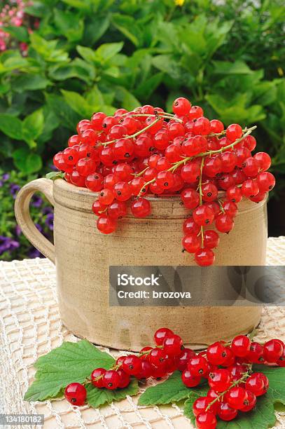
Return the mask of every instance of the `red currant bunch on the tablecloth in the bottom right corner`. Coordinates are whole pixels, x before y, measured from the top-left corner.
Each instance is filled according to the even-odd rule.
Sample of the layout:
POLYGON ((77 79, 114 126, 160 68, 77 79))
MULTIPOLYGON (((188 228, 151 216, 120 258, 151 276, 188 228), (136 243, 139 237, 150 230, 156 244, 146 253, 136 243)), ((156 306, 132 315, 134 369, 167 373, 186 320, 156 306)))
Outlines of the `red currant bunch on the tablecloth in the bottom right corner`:
POLYGON ((211 344, 188 360, 183 383, 194 387, 202 378, 209 383, 207 396, 198 397, 193 404, 197 428, 214 429, 216 416, 230 421, 239 411, 251 411, 256 406, 256 397, 264 395, 269 387, 265 374, 253 372, 252 365, 257 363, 285 367, 283 341, 272 339, 262 346, 239 335, 230 344, 211 344))

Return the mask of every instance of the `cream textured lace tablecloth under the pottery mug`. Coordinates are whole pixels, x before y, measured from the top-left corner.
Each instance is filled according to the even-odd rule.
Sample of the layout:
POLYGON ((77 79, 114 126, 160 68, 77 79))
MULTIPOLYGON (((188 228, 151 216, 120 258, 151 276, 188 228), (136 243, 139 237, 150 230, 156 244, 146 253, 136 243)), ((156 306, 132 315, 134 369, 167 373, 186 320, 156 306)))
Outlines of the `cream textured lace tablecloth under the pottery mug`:
MULTIPOLYGON (((267 264, 285 265, 285 237, 269 238, 267 264)), ((55 267, 48 259, 0 262, 0 323, 0 413, 44 414, 45 429, 193 428, 175 404, 137 407, 138 395, 100 409, 72 407, 66 400, 22 400, 34 376, 34 361, 62 341, 78 341, 60 322, 55 267)), ((285 308, 263 310, 256 338, 272 337, 285 340, 285 308)), ((31 428, 21 425, 15 429, 20 427, 31 428)), ((276 427, 285 428, 285 413, 277 413, 276 427)))

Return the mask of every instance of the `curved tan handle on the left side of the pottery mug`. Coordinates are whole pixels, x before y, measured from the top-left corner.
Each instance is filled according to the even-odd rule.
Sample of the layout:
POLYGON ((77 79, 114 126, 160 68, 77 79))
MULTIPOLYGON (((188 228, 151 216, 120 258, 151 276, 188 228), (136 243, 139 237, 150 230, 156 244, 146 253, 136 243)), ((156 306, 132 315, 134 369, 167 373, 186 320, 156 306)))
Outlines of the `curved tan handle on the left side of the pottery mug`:
POLYGON ((36 229, 29 212, 29 202, 37 191, 43 193, 51 205, 55 205, 55 200, 53 198, 53 180, 32 180, 32 182, 23 186, 18 192, 15 200, 15 217, 22 233, 27 237, 29 242, 55 264, 55 246, 36 229))

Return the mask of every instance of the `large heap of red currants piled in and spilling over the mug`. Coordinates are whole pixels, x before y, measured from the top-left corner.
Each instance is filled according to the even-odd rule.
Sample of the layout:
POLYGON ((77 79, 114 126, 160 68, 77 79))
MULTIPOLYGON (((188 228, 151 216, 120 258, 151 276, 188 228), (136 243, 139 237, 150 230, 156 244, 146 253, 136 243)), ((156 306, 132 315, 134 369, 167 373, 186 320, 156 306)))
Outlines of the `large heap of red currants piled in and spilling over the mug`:
POLYGON ((243 197, 258 203, 274 184, 265 152, 252 156, 256 139, 238 124, 209 121, 186 98, 174 100, 174 114, 145 105, 93 114, 77 125, 78 134, 53 162, 67 182, 97 192, 92 205, 97 229, 116 231, 118 219, 151 214, 147 194, 180 194, 191 216, 183 225, 183 249, 200 266, 214 264, 218 232, 229 233, 243 197), (219 191, 223 191, 222 193, 219 191), (214 225, 214 229, 204 228, 214 225), (218 231, 218 232, 217 232, 218 231))

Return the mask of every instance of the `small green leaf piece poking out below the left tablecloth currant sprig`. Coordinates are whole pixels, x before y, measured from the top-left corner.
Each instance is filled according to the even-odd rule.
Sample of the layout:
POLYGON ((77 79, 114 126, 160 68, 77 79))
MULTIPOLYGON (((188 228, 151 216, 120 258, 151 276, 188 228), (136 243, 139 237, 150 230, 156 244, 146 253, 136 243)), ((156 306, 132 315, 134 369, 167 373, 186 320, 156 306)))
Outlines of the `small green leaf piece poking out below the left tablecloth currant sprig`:
POLYGON ((91 405, 91 407, 98 408, 103 404, 111 404, 113 401, 123 400, 127 395, 137 395, 139 392, 139 385, 137 380, 134 379, 130 382, 129 386, 123 389, 97 389, 92 385, 88 385, 86 390, 88 404, 91 405))

